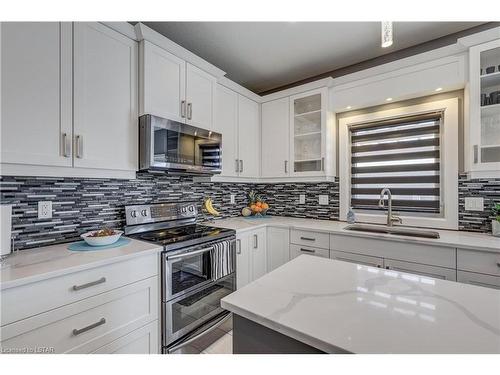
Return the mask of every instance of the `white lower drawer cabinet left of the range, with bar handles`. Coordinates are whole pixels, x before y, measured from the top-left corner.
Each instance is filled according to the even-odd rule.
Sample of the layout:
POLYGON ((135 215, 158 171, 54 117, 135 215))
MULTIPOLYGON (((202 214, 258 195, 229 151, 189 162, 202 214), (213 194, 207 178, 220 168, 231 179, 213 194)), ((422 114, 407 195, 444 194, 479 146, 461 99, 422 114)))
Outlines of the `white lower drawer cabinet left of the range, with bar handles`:
POLYGON ((2 351, 157 353, 158 333, 151 331, 153 326, 144 328, 158 321, 160 294, 157 259, 157 254, 150 254, 80 271, 73 278, 70 274, 2 290, 2 297, 6 295, 13 305, 10 309, 2 309, 8 313, 7 316, 2 314, 2 351), (153 257, 155 262, 143 261, 153 257), (130 275, 127 275, 128 265, 117 267, 120 263, 126 265, 128 262, 142 270, 135 273, 134 267, 130 267, 130 275), (146 270, 144 266, 150 269, 146 270), (96 273, 105 276, 96 279, 96 273), (141 273, 153 276, 138 279, 141 273), (29 298, 26 287, 39 284, 50 286, 52 281, 58 281, 62 289, 37 289, 29 298), (85 283, 80 284, 80 281, 85 283), (65 293, 66 289, 68 293, 65 293), (53 298, 55 295, 59 297, 53 298), (49 300, 50 303, 41 303, 43 300, 49 300), (9 311, 15 309, 16 305, 22 314, 13 320, 9 317, 12 315, 9 311))

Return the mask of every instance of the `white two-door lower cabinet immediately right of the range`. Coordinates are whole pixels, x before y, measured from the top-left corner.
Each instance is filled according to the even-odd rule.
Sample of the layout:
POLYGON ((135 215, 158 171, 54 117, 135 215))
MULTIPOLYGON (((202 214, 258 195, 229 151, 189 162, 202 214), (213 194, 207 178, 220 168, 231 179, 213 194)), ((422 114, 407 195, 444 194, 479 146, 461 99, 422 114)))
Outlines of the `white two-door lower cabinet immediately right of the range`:
POLYGON ((236 236, 237 289, 267 273, 266 228, 236 236))

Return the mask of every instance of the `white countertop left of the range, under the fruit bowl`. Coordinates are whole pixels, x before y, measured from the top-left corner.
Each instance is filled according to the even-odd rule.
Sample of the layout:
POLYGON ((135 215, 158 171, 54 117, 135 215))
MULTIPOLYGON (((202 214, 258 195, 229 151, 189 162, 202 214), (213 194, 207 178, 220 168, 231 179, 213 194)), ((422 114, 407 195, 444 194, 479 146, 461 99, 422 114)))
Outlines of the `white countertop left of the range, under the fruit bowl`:
POLYGON ((151 243, 130 240, 124 246, 95 251, 71 251, 68 250, 70 243, 17 251, 0 266, 0 289, 12 288, 162 250, 161 247, 151 243))

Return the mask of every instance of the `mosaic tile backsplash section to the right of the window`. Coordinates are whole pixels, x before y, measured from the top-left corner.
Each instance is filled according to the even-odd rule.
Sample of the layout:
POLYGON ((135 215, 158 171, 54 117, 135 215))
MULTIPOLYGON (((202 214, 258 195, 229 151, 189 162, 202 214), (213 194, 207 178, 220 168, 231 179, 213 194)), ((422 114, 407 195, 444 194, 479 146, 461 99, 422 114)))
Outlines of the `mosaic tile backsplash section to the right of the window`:
POLYGON ((459 229, 491 233, 492 208, 500 203, 500 179, 458 178, 458 221, 459 229), (466 211, 465 197, 483 197, 484 211, 466 211))

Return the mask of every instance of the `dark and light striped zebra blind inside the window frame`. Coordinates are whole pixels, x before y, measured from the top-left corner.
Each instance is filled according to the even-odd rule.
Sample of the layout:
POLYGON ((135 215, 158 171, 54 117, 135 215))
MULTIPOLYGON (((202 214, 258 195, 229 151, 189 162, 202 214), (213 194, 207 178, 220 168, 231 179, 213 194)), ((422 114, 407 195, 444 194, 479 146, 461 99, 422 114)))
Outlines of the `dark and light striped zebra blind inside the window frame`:
POLYGON ((393 209, 440 213, 442 112, 350 127, 351 206, 379 210, 388 187, 393 209))

